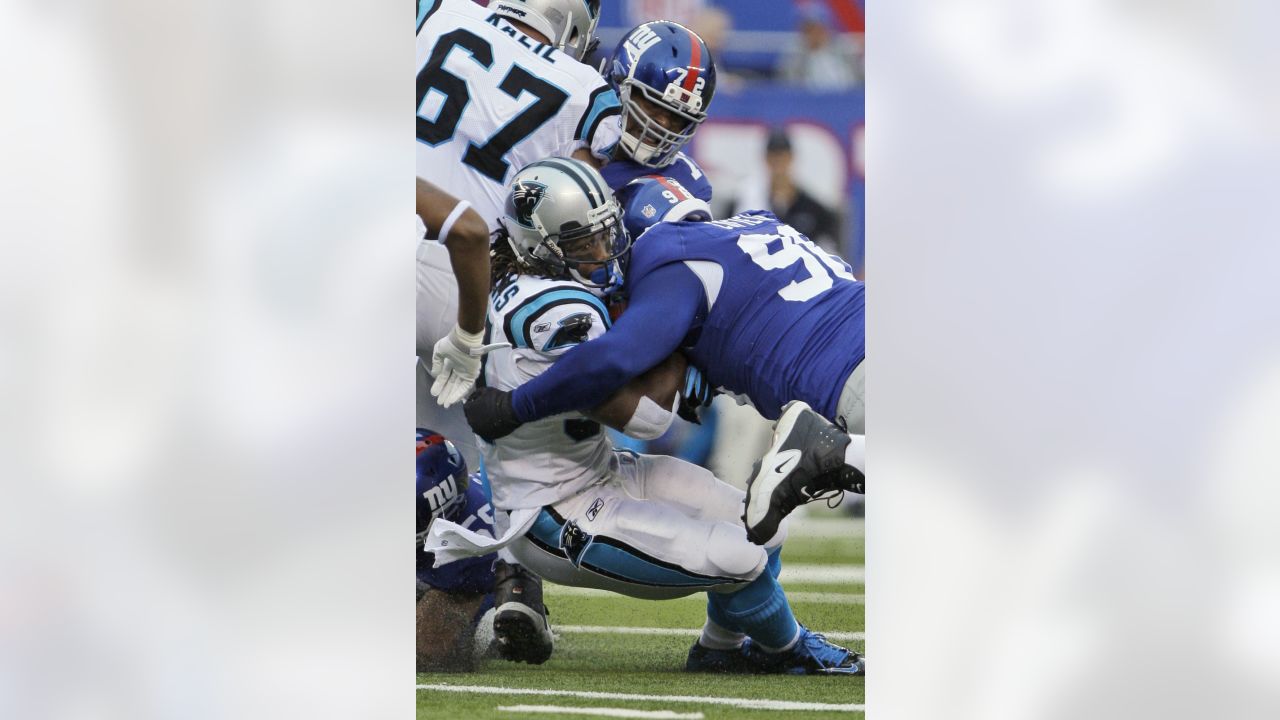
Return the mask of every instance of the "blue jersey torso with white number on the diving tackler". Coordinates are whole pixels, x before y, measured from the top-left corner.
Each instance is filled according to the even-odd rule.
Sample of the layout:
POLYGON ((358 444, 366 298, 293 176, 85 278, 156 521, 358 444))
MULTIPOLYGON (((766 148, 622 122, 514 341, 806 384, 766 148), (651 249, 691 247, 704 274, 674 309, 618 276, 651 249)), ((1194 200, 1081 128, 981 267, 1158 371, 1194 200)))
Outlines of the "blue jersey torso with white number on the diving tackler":
POLYGON ((833 418, 865 355, 864 286, 850 266, 764 211, 662 223, 635 245, 628 282, 672 263, 701 281, 707 314, 685 351, 716 387, 776 419, 791 400, 833 418))

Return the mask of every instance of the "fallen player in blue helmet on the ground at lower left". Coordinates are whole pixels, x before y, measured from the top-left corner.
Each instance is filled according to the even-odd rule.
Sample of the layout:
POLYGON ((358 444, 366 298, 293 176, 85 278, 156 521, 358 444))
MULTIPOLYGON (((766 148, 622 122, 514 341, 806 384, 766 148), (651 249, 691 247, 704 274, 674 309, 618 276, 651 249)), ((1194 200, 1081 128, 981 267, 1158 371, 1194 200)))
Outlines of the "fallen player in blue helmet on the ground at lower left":
POLYGON ((445 519, 493 536, 493 507, 480 473, 443 436, 417 429, 417 670, 471 670, 472 635, 486 610, 494 609, 498 653, 541 664, 552 655, 541 585, 529 573, 497 555, 457 560, 433 568, 422 550, 431 523, 445 519))

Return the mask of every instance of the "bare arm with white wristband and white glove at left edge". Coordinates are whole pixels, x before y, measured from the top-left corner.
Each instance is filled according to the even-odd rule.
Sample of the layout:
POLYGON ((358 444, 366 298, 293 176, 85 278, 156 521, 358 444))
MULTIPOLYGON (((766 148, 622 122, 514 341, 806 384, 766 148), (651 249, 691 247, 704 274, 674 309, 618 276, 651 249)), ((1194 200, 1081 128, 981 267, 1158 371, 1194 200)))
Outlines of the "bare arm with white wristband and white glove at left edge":
POLYGON ((428 237, 449 250, 458 282, 458 324, 435 343, 431 354, 431 395, 448 407, 466 397, 480 377, 484 315, 489 299, 489 227, 465 200, 417 178, 417 214, 428 237))

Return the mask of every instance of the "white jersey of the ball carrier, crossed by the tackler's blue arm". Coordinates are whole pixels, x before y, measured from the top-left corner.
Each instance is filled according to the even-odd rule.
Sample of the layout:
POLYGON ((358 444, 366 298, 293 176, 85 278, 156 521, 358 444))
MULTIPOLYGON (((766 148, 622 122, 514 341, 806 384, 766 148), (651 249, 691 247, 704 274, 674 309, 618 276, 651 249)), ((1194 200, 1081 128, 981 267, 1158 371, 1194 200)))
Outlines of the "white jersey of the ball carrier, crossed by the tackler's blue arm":
MULTIPOLYGON (((515 389, 550 368, 580 342, 609 327, 604 302, 571 281, 520 275, 489 299, 486 342, 509 342, 484 360, 484 382, 515 389)), ((480 442, 502 510, 541 507, 572 497, 613 471, 617 460, 604 428, 577 413, 525 423, 495 443, 480 442)))

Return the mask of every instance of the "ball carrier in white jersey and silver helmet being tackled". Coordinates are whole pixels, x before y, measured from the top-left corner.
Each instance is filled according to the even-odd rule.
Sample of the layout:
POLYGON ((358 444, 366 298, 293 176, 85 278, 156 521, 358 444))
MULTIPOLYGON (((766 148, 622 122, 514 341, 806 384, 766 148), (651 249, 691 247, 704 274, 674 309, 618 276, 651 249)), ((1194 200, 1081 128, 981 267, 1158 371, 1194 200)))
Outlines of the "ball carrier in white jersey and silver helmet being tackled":
MULTIPOLYGON (((617 261, 630 241, 600 174, 570 159, 517 173, 503 220, 489 340, 511 347, 485 359, 484 380, 508 391, 552 372, 573 347, 611 334, 600 296, 620 278, 617 261)), ((545 418, 481 443, 493 503, 508 514, 509 529, 488 547, 467 550, 509 543, 547 579, 632 597, 707 592, 690 671, 864 674, 860 655, 796 623, 777 582, 786 533, 776 532, 764 547, 749 542, 737 524, 742 491, 675 457, 620 452, 602 432, 602 423, 641 438, 666 430, 685 360, 672 352, 654 365, 586 415, 545 418)), ((465 548, 465 538, 440 524, 428 547, 444 561, 465 548)))

